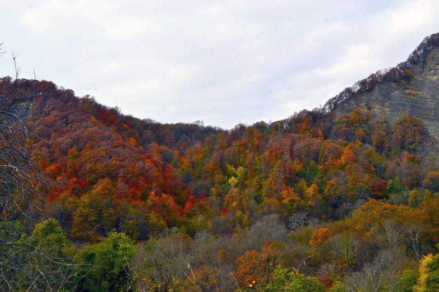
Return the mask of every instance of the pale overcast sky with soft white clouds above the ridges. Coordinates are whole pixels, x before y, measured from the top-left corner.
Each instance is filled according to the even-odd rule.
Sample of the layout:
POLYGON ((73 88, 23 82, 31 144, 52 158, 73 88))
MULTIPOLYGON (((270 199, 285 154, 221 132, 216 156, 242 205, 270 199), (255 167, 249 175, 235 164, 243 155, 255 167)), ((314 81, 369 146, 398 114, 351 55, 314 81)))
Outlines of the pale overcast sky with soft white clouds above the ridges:
POLYGON ((324 105, 439 32, 437 0, 1 1, 0 76, 231 129, 324 105))

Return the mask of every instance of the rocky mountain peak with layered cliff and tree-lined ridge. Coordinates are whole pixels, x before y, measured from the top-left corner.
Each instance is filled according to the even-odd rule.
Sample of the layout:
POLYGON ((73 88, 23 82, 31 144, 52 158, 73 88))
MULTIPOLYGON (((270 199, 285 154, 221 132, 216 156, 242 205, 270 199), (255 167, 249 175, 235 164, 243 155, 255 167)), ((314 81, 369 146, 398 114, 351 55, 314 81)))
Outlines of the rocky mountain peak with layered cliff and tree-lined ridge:
POLYGON ((355 108, 392 125, 401 114, 419 118, 432 140, 424 147, 439 148, 439 34, 426 37, 407 61, 371 74, 340 92, 325 105, 333 116, 355 108))

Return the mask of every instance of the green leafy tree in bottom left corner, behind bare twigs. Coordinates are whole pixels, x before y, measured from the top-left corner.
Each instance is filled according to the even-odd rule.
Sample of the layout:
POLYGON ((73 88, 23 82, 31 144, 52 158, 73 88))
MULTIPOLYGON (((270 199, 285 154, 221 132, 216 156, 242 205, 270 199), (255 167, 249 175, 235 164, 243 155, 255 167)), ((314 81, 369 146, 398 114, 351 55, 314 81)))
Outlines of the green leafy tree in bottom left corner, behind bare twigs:
POLYGON ((88 270, 73 263, 71 242, 54 219, 30 235, 18 221, 3 221, 0 239, 1 291, 64 291, 75 287, 77 272, 88 270))

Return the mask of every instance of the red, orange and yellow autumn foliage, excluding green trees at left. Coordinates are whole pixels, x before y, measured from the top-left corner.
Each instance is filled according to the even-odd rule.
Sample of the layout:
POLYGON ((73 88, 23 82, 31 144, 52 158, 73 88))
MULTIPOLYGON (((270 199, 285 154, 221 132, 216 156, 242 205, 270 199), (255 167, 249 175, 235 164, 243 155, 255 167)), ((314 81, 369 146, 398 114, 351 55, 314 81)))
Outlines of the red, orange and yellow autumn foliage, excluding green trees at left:
POLYGON ((413 116, 390 125, 359 109, 315 109, 223 130, 140 120, 50 82, 36 86, 50 92, 38 103, 52 105, 34 117, 48 212, 66 238, 89 246, 82 257, 122 277, 91 273, 89 283, 130 280, 123 257, 105 258, 111 241, 129 246, 136 288, 146 291, 369 291, 374 281, 358 279, 374 271, 387 287, 437 251, 439 164, 418 152, 427 134, 413 116))

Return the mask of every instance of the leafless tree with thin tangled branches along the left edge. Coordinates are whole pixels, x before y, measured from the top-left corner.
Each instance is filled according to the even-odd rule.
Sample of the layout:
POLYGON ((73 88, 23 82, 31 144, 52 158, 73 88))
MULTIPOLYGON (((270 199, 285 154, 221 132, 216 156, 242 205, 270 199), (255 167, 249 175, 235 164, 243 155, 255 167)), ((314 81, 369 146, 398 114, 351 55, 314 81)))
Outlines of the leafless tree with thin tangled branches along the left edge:
POLYGON ((36 82, 19 78, 14 54, 13 61, 15 78, 0 78, 0 290, 73 289, 77 266, 60 253, 63 243, 42 245, 32 237, 48 209, 49 183, 38 167, 40 141, 32 122, 43 93, 36 82))

